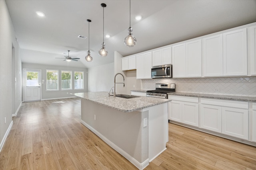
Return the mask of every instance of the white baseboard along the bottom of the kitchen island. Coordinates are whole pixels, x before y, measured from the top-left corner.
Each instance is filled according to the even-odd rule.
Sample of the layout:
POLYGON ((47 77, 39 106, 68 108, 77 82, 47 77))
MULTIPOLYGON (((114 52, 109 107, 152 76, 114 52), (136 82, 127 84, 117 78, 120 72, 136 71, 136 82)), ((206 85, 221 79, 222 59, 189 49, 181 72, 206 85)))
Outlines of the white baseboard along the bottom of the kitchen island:
POLYGON ((112 143, 110 140, 108 140, 106 137, 104 137, 101 133, 99 133, 97 130, 95 130, 93 127, 88 125, 86 122, 84 122, 81 119, 81 123, 86 126, 88 129, 90 129, 93 133, 95 133, 100 139, 102 139, 104 142, 106 142, 110 147, 112 147, 114 150, 116 150, 118 153, 120 153, 122 156, 124 156, 127 160, 129 160, 132 164, 134 164, 138 169, 143 170, 148 166, 149 159, 146 159, 144 162, 140 163, 136 159, 134 159, 132 156, 130 156, 127 152, 122 150, 120 147, 112 143))

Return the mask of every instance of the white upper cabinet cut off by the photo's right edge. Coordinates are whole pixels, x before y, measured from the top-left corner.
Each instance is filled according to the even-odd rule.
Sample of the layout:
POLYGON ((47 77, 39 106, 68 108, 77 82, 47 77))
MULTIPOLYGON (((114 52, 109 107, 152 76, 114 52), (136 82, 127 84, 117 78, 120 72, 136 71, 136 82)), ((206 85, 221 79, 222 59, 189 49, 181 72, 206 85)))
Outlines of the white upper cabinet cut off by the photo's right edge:
POLYGON ((250 74, 256 75, 256 25, 248 28, 248 59, 250 74))

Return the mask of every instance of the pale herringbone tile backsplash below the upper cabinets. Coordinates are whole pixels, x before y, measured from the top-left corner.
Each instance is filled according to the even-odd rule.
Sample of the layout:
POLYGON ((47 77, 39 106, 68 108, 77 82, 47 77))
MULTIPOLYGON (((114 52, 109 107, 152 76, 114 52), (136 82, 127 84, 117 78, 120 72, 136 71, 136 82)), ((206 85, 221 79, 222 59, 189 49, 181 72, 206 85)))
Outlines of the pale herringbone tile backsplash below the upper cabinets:
POLYGON ((175 83, 176 92, 256 97, 256 76, 216 78, 156 78, 142 80, 141 89, 153 90, 156 83, 175 83))

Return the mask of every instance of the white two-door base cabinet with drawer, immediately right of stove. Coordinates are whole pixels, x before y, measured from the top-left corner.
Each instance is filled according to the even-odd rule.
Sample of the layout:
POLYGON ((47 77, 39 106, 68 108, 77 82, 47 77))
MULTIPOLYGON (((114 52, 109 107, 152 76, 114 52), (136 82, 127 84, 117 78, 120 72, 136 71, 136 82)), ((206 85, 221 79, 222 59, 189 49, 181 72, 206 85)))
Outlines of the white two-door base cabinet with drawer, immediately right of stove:
POLYGON ((169 119, 198 127, 198 98, 170 96, 169 119))

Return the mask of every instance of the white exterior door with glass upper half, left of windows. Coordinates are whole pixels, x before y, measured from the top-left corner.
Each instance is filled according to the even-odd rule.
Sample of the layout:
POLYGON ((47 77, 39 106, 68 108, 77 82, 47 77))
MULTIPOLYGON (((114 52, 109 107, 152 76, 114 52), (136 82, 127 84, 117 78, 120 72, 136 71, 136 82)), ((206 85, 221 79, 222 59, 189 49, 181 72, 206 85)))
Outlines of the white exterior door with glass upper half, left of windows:
POLYGON ((23 71, 24 102, 41 100, 41 70, 23 71))

